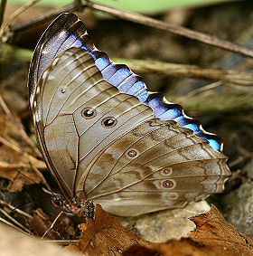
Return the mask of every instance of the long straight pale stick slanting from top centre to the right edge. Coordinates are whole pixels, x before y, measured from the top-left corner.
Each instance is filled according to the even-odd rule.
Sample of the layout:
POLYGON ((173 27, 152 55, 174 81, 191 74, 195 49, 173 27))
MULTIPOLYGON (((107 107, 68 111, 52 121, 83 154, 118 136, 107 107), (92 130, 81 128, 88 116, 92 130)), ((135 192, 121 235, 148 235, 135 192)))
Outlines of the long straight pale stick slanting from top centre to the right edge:
POLYGON ((207 33, 196 32, 196 31, 193 31, 192 29, 188 29, 179 25, 166 24, 164 22, 155 20, 143 14, 133 14, 126 11, 117 10, 115 8, 108 7, 105 5, 95 4, 89 1, 86 1, 85 3, 92 9, 101 11, 103 13, 112 14, 117 18, 126 19, 136 24, 144 24, 167 33, 182 35, 202 43, 218 46, 220 48, 223 48, 232 52, 238 52, 248 57, 253 57, 253 50, 244 46, 240 46, 239 44, 236 44, 236 43, 230 43, 227 40, 220 39, 216 36, 212 36, 207 33))

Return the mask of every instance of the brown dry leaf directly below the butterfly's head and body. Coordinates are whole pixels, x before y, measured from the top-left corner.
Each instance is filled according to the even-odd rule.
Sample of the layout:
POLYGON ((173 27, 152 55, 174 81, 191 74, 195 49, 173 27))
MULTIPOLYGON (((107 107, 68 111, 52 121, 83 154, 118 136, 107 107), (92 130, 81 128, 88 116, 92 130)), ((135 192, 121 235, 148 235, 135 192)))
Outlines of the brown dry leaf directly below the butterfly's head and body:
POLYGON ((126 230, 116 217, 105 212, 99 204, 95 207, 95 220, 81 223, 79 227, 81 236, 78 244, 71 244, 67 248, 89 256, 117 256, 122 255, 123 251, 133 245, 150 248, 155 244, 126 230))

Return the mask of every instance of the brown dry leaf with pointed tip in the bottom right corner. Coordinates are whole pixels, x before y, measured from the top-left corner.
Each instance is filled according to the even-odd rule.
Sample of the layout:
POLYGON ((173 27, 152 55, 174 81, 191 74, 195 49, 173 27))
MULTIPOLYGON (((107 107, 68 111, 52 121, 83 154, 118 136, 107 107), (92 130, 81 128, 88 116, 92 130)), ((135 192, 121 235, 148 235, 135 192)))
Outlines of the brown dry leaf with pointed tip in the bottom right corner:
POLYGON ((253 241, 238 232, 211 205, 209 213, 199 214, 191 220, 196 224, 189 238, 154 244, 152 248, 135 246, 123 254, 163 256, 248 256, 253 255, 253 241), (156 253, 156 254, 155 254, 156 253))

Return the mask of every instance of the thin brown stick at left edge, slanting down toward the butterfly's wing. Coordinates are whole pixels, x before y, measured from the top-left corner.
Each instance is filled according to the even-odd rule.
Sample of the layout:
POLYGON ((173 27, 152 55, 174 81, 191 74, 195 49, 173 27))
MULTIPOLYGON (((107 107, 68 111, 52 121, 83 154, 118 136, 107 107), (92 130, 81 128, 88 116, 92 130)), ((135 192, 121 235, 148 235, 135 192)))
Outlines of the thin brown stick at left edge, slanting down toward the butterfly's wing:
POLYGON ((23 127, 20 125, 20 123, 14 118, 14 115, 12 114, 11 110, 7 107, 5 100, 0 95, 0 106, 4 109, 5 114, 9 117, 9 119, 14 123, 15 126, 19 128, 20 135, 23 137, 25 142, 33 148, 33 151, 36 156, 42 157, 41 152, 39 149, 33 144, 33 141, 31 138, 26 134, 26 132, 23 130, 23 127))

